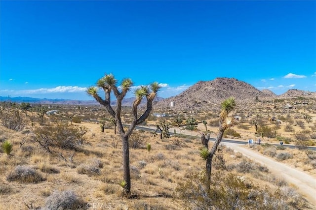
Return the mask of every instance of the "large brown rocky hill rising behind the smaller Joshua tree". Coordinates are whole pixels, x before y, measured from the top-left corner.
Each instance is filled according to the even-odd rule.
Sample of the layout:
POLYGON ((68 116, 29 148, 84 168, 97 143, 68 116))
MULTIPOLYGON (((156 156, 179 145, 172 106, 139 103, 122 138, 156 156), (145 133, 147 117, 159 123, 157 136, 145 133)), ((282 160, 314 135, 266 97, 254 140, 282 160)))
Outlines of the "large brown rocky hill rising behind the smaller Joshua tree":
POLYGON ((248 83, 235 78, 216 78, 212 81, 199 81, 177 96, 159 101, 155 108, 174 110, 211 110, 229 97, 235 97, 239 105, 254 103, 257 99, 271 99, 276 96, 270 90, 260 91, 248 83))

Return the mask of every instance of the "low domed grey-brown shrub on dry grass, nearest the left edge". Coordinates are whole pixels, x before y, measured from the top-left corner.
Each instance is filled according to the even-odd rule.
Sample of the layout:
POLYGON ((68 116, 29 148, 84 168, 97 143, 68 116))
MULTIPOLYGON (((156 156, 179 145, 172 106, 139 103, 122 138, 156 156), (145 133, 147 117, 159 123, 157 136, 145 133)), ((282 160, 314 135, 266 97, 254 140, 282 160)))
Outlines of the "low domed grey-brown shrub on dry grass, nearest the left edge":
POLYGON ((36 183, 45 179, 34 168, 18 165, 7 175, 6 180, 36 183))

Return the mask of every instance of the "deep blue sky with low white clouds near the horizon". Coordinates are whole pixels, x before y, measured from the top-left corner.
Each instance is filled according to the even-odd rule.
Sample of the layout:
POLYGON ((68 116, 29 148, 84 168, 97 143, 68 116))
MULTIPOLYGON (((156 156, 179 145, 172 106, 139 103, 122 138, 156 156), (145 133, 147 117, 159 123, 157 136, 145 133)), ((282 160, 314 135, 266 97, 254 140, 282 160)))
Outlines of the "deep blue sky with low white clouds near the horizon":
POLYGON ((0 95, 91 100, 113 73, 159 96, 236 78, 316 91, 316 1, 0 1, 0 95))

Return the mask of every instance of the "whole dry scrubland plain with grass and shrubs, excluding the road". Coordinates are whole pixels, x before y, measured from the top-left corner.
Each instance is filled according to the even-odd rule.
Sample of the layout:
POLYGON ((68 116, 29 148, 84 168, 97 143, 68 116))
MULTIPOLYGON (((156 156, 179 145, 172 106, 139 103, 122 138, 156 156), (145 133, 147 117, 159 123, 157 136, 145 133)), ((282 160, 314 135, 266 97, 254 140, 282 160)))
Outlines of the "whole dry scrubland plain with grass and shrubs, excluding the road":
MULTIPOLYGON (((261 107, 265 109, 254 106, 237 110, 239 123, 224 138, 261 138, 261 145, 252 145, 249 150, 316 177, 316 153, 307 148, 315 146, 313 106, 291 110, 276 110, 268 104, 261 107), (304 118, 306 114, 311 121, 304 118), (280 141, 297 148, 280 146, 280 141)), ((30 109, 16 117, 14 107, 2 105, 0 142, 7 141, 13 148, 0 152, 0 209, 202 210, 210 203, 214 209, 223 210, 315 208, 296 192, 296 186, 225 146, 219 148, 213 160, 212 193, 207 195, 203 191, 205 160, 199 156, 202 145, 198 131, 216 136, 216 112, 166 110, 171 115, 164 118, 170 132, 178 128, 174 120, 177 117, 184 120, 183 124, 188 117, 197 122, 192 131, 181 125, 182 134, 170 138, 134 130, 129 142, 132 196, 124 198, 119 134, 115 134, 111 120, 104 123, 104 132, 100 128, 100 120, 109 119, 106 110, 71 105, 51 109, 58 112, 41 117, 39 111, 30 109), (9 129, 3 116, 12 118, 13 122, 7 123, 22 118, 21 126, 9 129), (202 120, 207 121, 206 126, 202 120), (186 132, 196 136, 186 136, 186 132)), ((126 108, 122 115, 125 123, 129 122, 128 113, 126 108)), ((159 122, 161 118, 151 116, 144 126, 155 127, 159 122)))

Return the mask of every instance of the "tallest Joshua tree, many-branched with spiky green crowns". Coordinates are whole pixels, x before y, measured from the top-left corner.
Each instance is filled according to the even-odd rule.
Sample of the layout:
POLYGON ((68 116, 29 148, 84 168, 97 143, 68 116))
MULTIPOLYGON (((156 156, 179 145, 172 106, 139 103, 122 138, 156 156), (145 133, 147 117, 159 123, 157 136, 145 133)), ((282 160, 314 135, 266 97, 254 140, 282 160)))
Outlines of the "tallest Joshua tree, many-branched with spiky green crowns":
POLYGON ((133 86, 133 82, 131 79, 123 79, 119 86, 118 80, 115 79, 113 74, 105 74, 104 77, 100 78, 96 87, 89 87, 86 91, 89 95, 93 96, 93 98, 98 101, 101 105, 105 106, 109 114, 116 120, 118 133, 121 137, 122 141, 122 156, 123 156, 123 181, 124 181, 124 191, 126 196, 130 195, 130 170, 129 170, 129 146, 128 146, 128 138, 132 134, 135 126, 144 122, 150 112, 152 111, 152 103, 155 97, 157 96, 157 92, 160 89, 158 82, 154 82, 149 86, 141 86, 134 90, 134 94, 136 96, 135 101, 132 105, 132 122, 128 129, 124 130, 121 120, 121 108, 122 108, 122 100, 125 97, 126 93, 131 90, 133 86), (120 87, 120 88, 118 88, 120 87), (102 89, 105 93, 105 99, 101 98, 98 94, 98 89, 102 89), (120 90, 119 90, 120 89, 120 90), (117 99, 116 108, 113 109, 111 106, 111 92, 114 93, 117 99), (141 103, 142 99, 146 97, 147 106, 146 110, 142 115, 139 115, 137 112, 137 108, 141 103))

